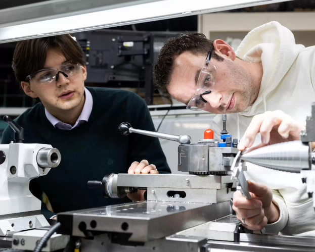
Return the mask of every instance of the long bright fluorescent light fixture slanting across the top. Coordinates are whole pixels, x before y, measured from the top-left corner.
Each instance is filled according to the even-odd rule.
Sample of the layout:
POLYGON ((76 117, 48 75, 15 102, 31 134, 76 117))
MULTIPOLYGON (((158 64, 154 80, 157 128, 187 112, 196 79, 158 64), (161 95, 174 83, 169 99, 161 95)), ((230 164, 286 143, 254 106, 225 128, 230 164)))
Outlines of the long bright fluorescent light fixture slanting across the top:
MULTIPOLYGON (((92 3, 94 1, 97 0, 89 0, 88 3, 92 3)), ((47 3, 49 4, 49 2, 51 1, 48 1, 47 3)), ((59 2, 63 1, 59 0, 59 2)), ((73 5, 73 1, 68 2, 69 5, 73 5)), ((119 0, 116 0, 116 2, 119 2, 119 0)), ((2 24, 2 27, 0 28, 0 43, 285 1, 144 0, 129 1, 128 6, 126 6, 127 4, 125 1, 122 2, 123 4, 120 6, 118 4, 110 6, 107 5, 106 10, 101 10, 102 8, 99 7, 99 9, 91 9, 89 13, 86 13, 89 10, 81 10, 80 13, 78 11, 74 13, 63 13, 62 15, 59 15, 62 17, 58 17, 58 15, 55 15, 49 17, 49 20, 47 20, 47 16, 36 17, 36 19, 31 18, 29 19, 29 21, 27 20, 27 17, 25 17, 25 20, 20 21, 20 23, 23 24, 12 25, 12 21, 10 22, 10 24, 7 24, 7 26, 6 24, 2 24), (34 22, 34 20, 37 21, 34 22)), ((41 4, 42 10, 45 10, 44 8, 49 8, 49 5, 46 6, 43 3, 41 4)), ((21 9, 28 8, 28 6, 22 6, 18 8, 21 12, 21 9)), ((10 12, 14 13, 14 9, 15 8, 11 8, 10 12)), ((6 10, 3 10, 2 13, 4 13, 5 11, 6 10)), ((43 13, 47 13, 47 10, 43 11, 43 13)))

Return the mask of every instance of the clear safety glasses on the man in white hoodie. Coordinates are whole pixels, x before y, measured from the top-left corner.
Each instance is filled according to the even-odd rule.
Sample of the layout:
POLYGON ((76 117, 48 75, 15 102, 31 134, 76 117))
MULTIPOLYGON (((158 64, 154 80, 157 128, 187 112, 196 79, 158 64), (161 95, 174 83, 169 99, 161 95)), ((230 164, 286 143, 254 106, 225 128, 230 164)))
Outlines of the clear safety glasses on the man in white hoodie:
POLYGON ((186 107, 189 110, 202 110, 206 107, 207 101, 202 96, 211 93, 216 81, 216 67, 210 63, 212 52, 213 49, 210 50, 207 56, 206 66, 200 71, 196 92, 186 107))

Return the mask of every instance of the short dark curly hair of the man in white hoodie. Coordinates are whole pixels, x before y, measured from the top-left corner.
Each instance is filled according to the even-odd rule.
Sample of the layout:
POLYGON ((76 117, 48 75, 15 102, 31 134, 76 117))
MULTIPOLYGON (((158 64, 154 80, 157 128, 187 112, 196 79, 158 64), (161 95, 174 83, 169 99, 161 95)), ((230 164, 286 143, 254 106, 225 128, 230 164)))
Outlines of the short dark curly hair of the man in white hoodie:
MULTIPOLYGON (((177 37, 170 38, 162 47, 153 68, 155 86, 168 94, 166 87, 170 82, 175 58, 184 52, 191 52, 194 55, 202 54, 206 57, 210 49, 214 49, 213 41, 207 39, 202 33, 181 33, 177 37)), ((223 58, 214 51, 211 59, 213 58, 223 61, 223 58)))

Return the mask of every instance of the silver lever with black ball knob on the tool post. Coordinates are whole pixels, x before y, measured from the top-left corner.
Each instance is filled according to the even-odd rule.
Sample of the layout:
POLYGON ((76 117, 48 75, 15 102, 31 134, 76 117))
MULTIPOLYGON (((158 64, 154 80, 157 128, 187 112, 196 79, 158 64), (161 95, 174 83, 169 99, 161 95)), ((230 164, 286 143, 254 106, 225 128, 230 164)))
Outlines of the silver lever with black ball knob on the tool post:
POLYGON ((137 133, 141 135, 146 135, 146 136, 153 136, 153 137, 158 137, 166 140, 171 140, 171 141, 176 141, 181 144, 189 144, 191 142, 191 137, 189 135, 170 135, 170 134, 164 134, 164 133, 158 133, 154 131, 147 131, 147 130, 141 130, 141 129, 134 129, 130 125, 130 123, 121 123, 118 127, 119 132, 126 136, 129 135, 130 133, 137 133))

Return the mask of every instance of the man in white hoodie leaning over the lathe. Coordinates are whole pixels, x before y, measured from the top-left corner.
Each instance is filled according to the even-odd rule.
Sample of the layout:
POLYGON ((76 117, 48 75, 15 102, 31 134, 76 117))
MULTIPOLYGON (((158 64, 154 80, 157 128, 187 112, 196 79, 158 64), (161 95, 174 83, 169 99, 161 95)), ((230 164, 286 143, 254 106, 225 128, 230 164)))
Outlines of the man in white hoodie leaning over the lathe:
MULTIPOLYGON (((273 126, 279 126, 274 124, 274 117, 290 120, 292 117, 296 124, 305 122, 311 102, 315 101, 314 56, 314 46, 305 48, 295 44, 290 30, 278 22, 270 22, 249 32, 236 52, 226 42, 212 42, 200 33, 170 39, 161 49, 154 76, 161 91, 187 104, 188 109, 228 114, 227 129, 240 139, 259 114, 264 113, 256 116, 253 124, 262 125, 264 121, 269 132, 273 126), (276 116, 275 113, 271 116, 268 112, 275 110, 291 117, 280 112, 281 115, 276 112, 276 116)), ((221 131, 220 115, 215 117, 213 129, 221 131)), ((260 137, 257 133, 259 130, 248 133, 241 146, 269 143, 268 134, 263 132, 260 137)), ((290 133, 280 135, 288 138, 290 133)), ((268 232, 315 235, 312 232, 315 213, 299 175, 255 165, 248 165, 247 173, 251 181, 268 187, 251 183, 250 189, 260 203, 243 202, 248 205, 247 210, 252 209, 250 216, 244 214, 246 204, 234 200, 234 205, 243 208, 239 210, 239 219, 253 230, 265 227, 268 232), (273 189, 273 195, 269 188, 273 189)))

